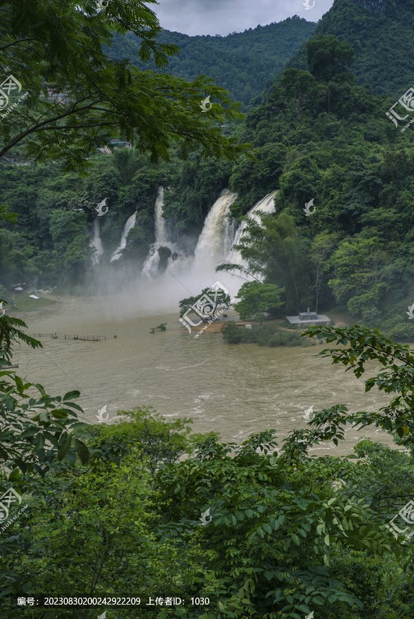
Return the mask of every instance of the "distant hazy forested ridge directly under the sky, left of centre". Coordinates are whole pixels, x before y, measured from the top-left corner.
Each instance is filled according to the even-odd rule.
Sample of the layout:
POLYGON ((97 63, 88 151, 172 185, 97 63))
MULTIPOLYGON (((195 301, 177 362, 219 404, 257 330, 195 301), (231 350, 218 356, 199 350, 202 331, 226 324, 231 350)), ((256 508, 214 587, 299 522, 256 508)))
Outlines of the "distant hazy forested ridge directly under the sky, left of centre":
POLYGON ((115 36, 114 45, 107 48, 107 53, 117 60, 128 58, 140 69, 152 69, 186 80, 206 75, 226 88, 231 98, 247 105, 251 98, 260 94, 267 80, 280 74, 301 43, 309 39, 315 26, 296 15, 280 23, 258 25, 227 36, 187 36, 164 30, 158 40, 181 48, 179 56, 170 58, 165 69, 158 69, 153 61, 143 63, 140 60, 139 40, 134 34, 125 38, 115 36))

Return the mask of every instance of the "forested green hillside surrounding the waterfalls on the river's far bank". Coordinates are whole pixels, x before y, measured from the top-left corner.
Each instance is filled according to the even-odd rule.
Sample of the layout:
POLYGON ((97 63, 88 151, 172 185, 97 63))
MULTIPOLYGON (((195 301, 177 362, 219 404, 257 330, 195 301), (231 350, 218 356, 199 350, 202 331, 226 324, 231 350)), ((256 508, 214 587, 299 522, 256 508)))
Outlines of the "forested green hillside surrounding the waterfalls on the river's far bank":
MULTIPOLYGON (((371 10, 342 0, 332 11, 334 17, 343 10, 380 19, 384 30, 396 29, 391 5, 375 6, 371 10)), ((398 6, 406 8, 406 1, 398 6)), ((330 14, 324 20, 336 23, 330 14)), ((287 23, 299 26, 303 21, 288 20, 285 27, 287 23)), ((257 36, 273 26, 256 29, 257 36)), ((401 32, 404 28, 397 34, 401 32)), ((214 49, 229 37, 198 39, 208 40, 214 49)), ((389 70, 387 63, 383 66, 384 50, 370 54, 371 67, 389 70)), ((103 196, 111 208, 101 226, 101 263, 117 268, 109 264, 110 253, 127 217, 136 211, 136 226, 119 265, 130 262, 140 270, 154 241, 158 185, 166 188, 165 217, 192 238, 223 188, 238 193, 231 206, 235 219, 278 189, 276 217, 267 221, 265 232, 251 230, 244 250, 259 265, 265 283, 284 288, 282 314, 297 314, 319 301, 320 309, 337 307, 411 340, 414 327, 406 307, 414 300, 413 136, 409 129, 400 131, 404 123, 396 128, 386 117, 393 98, 376 96, 356 83, 355 56, 349 43, 332 34, 313 37, 307 45, 310 70, 286 69, 273 86, 267 84, 245 122, 226 127, 235 140, 256 146, 257 162, 245 156, 236 162, 203 159, 196 146, 187 160, 172 149, 172 160, 157 165, 127 150, 109 158, 94 155, 96 167, 87 180, 62 173, 61 164, 52 162, 25 169, 4 166, 3 200, 20 219, 17 226, 6 223, 0 230, 3 285, 26 280, 39 286, 85 285, 92 268, 90 230, 103 196), (303 207, 311 199, 316 210, 306 217, 303 207)), ((393 50, 388 57, 392 65, 393 50)), ((392 70, 386 75, 395 77, 392 70)))

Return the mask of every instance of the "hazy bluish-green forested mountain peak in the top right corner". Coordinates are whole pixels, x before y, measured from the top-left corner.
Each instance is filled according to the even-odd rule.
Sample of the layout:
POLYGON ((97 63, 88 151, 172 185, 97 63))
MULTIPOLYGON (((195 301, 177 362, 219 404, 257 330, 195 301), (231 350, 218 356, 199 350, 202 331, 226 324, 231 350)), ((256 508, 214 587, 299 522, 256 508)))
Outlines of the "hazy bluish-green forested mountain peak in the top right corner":
MULTIPOLYGON (((414 83, 413 0, 335 0, 313 38, 333 34, 355 50, 356 83, 397 99, 414 83)), ((287 68, 308 70, 306 46, 287 68)))

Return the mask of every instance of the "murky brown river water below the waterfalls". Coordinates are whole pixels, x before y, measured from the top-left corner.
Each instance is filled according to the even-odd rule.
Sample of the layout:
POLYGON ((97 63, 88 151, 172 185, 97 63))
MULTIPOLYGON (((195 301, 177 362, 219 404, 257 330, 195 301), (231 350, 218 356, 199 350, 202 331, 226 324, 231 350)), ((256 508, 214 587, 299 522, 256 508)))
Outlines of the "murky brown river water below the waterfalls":
MULTIPOLYGON (((52 298, 52 297, 50 297, 52 298)), ((342 403, 349 411, 373 411, 389 402, 376 389, 364 393, 343 365, 316 356, 312 347, 229 345, 220 334, 190 336, 178 313, 136 315, 127 298, 61 298, 39 312, 18 314, 30 335, 96 334, 101 342, 41 338, 43 350, 17 345, 13 360, 19 376, 40 382, 51 395, 79 389, 84 420, 97 423, 107 405, 108 422, 116 411, 153 406, 165 417, 192 417, 194 432, 218 431, 224 441, 242 442, 250 433, 276 428, 278 443, 293 428, 307 426, 304 411, 342 403), (128 308, 128 310, 127 310, 128 308), (167 323, 166 332, 149 329, 167 323), (116 335, 116 338, 114 336, 116 335)), ((232 314, 229 311, 229 317, 232 314)), ((374 365, 370 366, 375 371, 374 365)), ((348 429, 346 440, 317 446, 310 453, 346 455, 362 436, 391 445, 391 437, 365 428, 348 429)))

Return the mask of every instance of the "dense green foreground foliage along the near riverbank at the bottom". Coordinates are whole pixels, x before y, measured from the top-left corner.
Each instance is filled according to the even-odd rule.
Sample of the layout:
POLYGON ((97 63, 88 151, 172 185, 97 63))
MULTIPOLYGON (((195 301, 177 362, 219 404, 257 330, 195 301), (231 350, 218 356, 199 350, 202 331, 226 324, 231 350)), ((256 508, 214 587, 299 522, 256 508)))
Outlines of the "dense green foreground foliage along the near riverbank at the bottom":
MULTIPOLYGON (((139 591, 138 609, 148 619, 155 609, 146 602, 158 596, 185 600, 174 609, 156 609, 159 619, 171 611, 200 619, 303 619, 311 612, 337 619, 411 616, 412 544, 404 535, 395 541, 386 521, 412 497, 413 358, 375 330, 314 327, 309 333, 349 343, 321 354, 350 365, 358 377, 369 359, 380 360, 385 370, 366 380, 366 389, 377 384, 394 393, 391 405, 354 415, 344 404, 318 411, 309 429, 293 431, 282 447, 270 429, 241 446, 223 444, 214 433, 192 434, 189 419, 167 421, 137 407, 120 411, 116 424, 90 426, 86 464, 70 454, 65 432, 59 459, 48 450, 53 435, 35 434, 36 422, 46 420, 41 413, 29 421, 37 402, 6 415, 1 383, 3 431, 13 442, 6 461, 11 464, 14 450, 23 448, 27 455, 48 450, 49 463, 43 477, 23 462, 19 475, 14 471, 6 479, 3 470, 1 476, 0 489, 13 484, 25 508, 8 523, 0 545, 5 619, 16 616, 17 596, 36 598, 45 580, 55 598, 116 600, 139 591), (26 426, 23 442, 15 416, 26 426), (355 448, 358 461, 309 457, 311 446, 338 444, 346 423, 361 422, 384 428, 407 450, 363 440, 355 448), (40 436, 45 442, 38 445, 40 436), (190 603, 195 597, 208 602, 190 603)), ((14 373, 2 378, 21 395, 14 373)), ((73 406, 68 400, 74 395, 63 398, 63 407, 73 406)), ((70 411, 58 412, 55 424, 65 428, 70 411)), ((80 430, 74 428, 74 442, 80 430)), ((105 609, 107 604, 92 602, 76 613, 92 619, 105 609)), ((36 612, 49 616, 47 609, 36 612)), ((131 607, 117 606, 116 613, 127 618, 131 607)), ((31 617, 32 609, 20 607, 19 616, 31 617)), ((73 606, 62 602, 59 616, 73 616, 73 606)))

